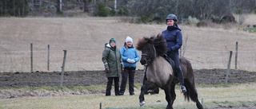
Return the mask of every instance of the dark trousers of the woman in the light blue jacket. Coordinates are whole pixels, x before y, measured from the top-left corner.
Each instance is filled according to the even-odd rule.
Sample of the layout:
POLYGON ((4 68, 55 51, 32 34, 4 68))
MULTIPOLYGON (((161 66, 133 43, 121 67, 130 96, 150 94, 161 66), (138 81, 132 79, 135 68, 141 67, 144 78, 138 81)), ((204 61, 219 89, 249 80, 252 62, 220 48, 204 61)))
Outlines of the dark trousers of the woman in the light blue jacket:
POLYGON ((125 71, 122 72, 122 83, 120 86, 120 91, 122 94, 126 91, 126 83, 127 83, 128 77, 129 77, 129 92, 130 94, 134 93, 134 74, 135 74, 135 68, 125 67, 125 71))

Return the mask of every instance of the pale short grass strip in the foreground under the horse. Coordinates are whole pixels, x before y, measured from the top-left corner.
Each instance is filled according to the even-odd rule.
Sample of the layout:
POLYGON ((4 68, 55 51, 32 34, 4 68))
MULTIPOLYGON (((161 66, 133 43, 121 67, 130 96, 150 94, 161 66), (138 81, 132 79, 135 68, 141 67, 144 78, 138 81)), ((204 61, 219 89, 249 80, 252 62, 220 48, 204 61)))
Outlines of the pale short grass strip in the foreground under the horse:
MULTIPOLYGON (((205 108, 210 107, 234 107, 251 105, 256 103, 256 84, 233 84, 229 87, 198 86, 198 98, 203 102, 205 108)), ((97 109, 102 103, 102 108, 165 108, 166 99, 164 91, 158 95, 146 95, 146 106, 139 107, 139 90, 135 90, 135 95, 105 96, 104 94, 94 95, 61 95, 52 97, 24 97, 17 99, 0 99, 0 108, 88 108, 97 109)), ((112 92, 113 93, 113 92, 112 92)), ((185 102, 184 97, 176 88, 177 98, 174 108, 196 108, 194 102, 185 102)))

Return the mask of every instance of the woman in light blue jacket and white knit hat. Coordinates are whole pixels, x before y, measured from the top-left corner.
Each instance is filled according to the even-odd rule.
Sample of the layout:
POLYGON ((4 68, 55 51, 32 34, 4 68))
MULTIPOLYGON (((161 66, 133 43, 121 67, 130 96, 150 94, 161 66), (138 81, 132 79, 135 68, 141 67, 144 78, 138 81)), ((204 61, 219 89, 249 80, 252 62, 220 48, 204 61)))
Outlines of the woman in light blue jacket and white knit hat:
POLYGON ((120 50, 122 61, 125 66, 125 71, 122 72, 122 83, 120 86, 120 95, 124 95, 126 91, 127 78, 129 76, 129 92, 134 95, 134 74, 136 69, 136 62, 140 60, 138 51, 133 46, 133 39, 126 37, 125 45, 120 50))

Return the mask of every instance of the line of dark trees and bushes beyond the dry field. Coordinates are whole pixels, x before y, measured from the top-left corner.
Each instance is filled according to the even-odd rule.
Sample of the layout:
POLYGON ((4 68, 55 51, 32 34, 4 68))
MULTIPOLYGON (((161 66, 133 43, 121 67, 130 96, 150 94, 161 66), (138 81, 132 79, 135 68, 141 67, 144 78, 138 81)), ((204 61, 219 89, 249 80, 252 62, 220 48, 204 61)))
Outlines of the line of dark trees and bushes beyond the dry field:
POLYGON ((176 14, 178 19, 190 16, 219 22, 228 14, 256 13, 256 0, 0 0, 0 15, 26 17, 49 5, 60 13, 66 10, 62 4, 64 7, 71 3, 80 4, 91 16, 130 16, 146 22, 152 17, 163 21, 168 14, 176 14))

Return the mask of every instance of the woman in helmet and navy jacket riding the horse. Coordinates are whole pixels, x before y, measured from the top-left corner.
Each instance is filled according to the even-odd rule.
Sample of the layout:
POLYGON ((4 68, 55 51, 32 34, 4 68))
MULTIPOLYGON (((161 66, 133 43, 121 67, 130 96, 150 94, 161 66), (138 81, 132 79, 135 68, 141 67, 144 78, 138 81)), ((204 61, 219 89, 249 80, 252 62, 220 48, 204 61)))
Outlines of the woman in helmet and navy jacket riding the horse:
POLYGON ((181 91, 182 93, 186 92, 186 88, 184 86, 184 79, 182 68, 179 65, 179 56, 178 56, 178 49, 182 46, 182 29, 178 28, 177 25, 177 17, 174 14, 169 14, 166 17, 167 29, 162 31, 165 36, 166 43, 167 43, 167 56, 169 56, 172 60, 174 60, 176 71, 176 76, 181 84, 181 91))

